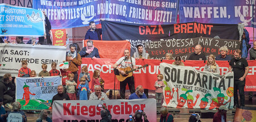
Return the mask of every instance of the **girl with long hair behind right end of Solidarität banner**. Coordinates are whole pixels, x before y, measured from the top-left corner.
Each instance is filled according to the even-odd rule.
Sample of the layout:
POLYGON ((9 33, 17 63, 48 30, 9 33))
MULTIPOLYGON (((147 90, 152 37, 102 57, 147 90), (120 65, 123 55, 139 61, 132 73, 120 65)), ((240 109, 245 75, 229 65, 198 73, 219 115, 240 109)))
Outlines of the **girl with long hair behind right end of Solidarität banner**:
POLYGON ((204 71, 210 71, 212 73, 220 74, 220 68, 218 67, 218 64, 216 64, 213 54, 209 55, 207 64, 205 64, 204 66, 204 71))

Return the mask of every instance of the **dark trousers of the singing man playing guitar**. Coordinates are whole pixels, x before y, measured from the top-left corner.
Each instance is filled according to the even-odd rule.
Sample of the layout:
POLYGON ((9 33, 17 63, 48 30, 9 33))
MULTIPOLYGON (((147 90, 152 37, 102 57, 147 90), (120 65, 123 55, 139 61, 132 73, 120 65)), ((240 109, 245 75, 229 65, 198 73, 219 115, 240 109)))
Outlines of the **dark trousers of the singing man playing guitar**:
POLYGON ((130 93, 133 94, 135 92, 135 87, 134 87, 134 77, 128 77, 125 79, 125 81, 120 82, 120 96, 121 99, 125 99, 125 88, 126 85, 128 84, 130 93))

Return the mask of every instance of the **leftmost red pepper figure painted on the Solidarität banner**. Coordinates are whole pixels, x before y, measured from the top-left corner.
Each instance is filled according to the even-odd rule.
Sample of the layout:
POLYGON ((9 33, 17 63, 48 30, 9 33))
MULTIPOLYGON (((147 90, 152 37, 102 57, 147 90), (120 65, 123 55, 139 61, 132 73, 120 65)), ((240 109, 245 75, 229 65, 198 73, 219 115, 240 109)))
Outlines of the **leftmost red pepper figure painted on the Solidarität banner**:
POLYGON ((187 102, 187 99, 188 99, 187 94, 189 92, 193 92, 193 90, 187 90, 185 88, 182 88, 181 90, 185 91, 185 94, 181 94, 180 98, 179 98, 179 89, 176 90, 176 92, 177 92, 177 102, 178 102, 176 108, 182 108, 184 106, 184 104, 187 102))

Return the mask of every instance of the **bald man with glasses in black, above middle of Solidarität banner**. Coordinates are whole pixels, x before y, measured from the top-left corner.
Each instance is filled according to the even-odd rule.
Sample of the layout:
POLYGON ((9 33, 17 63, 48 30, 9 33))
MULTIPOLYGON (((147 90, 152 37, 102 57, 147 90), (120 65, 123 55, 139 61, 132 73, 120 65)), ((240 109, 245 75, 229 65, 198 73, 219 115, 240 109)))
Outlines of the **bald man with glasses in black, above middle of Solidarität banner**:
POLYGON ((188 58, 188 60, 207 60, 205 55, 201 53, 201 45, 196 45, 195 47, 195 53, 191 54, 188 58))

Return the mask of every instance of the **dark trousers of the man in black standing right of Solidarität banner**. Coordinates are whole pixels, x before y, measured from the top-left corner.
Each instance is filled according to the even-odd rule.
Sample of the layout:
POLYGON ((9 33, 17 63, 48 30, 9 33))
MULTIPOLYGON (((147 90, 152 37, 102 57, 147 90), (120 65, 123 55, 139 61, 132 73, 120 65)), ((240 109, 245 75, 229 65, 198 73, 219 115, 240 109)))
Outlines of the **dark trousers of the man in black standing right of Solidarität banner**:
POLYGON ((239 105, 238 103, 238 95, 237 95, 237 90, 239 91, 240 95, 240 106, 245 106, 245 80, 240 81, 234 79, 234 106, 239 105))

